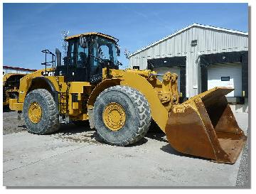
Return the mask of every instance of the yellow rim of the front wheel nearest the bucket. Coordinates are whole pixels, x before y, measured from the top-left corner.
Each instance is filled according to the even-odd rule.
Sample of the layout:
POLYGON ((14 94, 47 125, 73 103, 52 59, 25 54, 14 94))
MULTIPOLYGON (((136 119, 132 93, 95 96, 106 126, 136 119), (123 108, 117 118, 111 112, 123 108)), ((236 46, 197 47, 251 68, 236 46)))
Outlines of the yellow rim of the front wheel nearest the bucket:
POLYGON ((126 119, 124 108, 116 102, 107 104, 102 117, 105 126, 112 131, 121 129, 124 126, 126 119))

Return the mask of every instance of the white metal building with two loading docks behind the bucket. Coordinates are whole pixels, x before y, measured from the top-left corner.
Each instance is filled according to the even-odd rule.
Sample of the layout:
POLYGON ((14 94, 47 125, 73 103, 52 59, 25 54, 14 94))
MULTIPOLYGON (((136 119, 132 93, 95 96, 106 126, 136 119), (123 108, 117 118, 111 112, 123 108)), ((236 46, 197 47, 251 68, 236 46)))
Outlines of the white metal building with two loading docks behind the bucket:
POLYGON ((229 102, 247 102, 248 33, 193 23, 128 58, 129 68, 176 72, 184 99, 226 86, 235 88, 229 102))

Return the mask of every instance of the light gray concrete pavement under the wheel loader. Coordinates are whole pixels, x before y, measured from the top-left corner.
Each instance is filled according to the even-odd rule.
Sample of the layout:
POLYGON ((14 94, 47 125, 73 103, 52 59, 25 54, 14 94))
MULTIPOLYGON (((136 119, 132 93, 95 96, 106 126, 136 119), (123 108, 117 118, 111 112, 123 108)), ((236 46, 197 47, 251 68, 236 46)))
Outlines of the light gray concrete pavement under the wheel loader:
MULTIPOLYGON (((235 117, 246 131, 247 114, 235 117)), ((242 154, 234 165, 213 163, 174 151, 164 134, 149 133, 134 146, 118 147, 100 143, 95 131, 85 129, 63 126, 46 136, 4 135, 4 185, 236 185, 242 154)))

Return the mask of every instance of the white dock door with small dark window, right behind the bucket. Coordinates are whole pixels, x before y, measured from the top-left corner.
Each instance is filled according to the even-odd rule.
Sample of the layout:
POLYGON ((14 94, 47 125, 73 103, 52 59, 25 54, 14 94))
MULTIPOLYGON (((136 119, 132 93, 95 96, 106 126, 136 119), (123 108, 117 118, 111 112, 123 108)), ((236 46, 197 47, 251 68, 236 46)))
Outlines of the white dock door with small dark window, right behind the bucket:
POLYGON ((242 65, 241 63, 215 64, 208 68, 208 90, 213 87, 233 87, 227 97, 242 96, 242 65))

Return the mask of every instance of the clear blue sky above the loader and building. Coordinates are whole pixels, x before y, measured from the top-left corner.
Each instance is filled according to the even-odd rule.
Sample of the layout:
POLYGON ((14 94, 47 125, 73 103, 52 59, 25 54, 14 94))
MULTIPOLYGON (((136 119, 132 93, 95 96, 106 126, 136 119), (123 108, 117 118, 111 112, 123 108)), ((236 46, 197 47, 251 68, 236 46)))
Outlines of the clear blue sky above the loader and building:
POLYGON ((61 48, 61 31, 97 31, 134 52, 191 23, 248 31, 247 4, 4 4, 4 65, 43 68, 41 50, 61 48))

